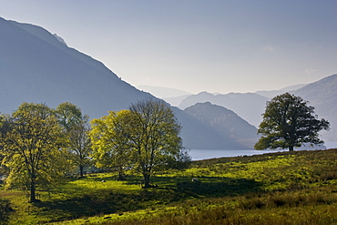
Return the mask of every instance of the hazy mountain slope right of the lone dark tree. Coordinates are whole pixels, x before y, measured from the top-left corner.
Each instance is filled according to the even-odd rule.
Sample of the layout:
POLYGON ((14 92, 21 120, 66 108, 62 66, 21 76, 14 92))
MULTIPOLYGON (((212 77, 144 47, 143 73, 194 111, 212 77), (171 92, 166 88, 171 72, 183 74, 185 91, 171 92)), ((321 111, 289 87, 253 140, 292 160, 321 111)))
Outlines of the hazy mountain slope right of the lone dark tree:
POLYGON ((322 131, 322 138, 337 141, 337 74, 322 78, 292 93, 309 101, 319 118, 330 122, 331 130, 322 131))

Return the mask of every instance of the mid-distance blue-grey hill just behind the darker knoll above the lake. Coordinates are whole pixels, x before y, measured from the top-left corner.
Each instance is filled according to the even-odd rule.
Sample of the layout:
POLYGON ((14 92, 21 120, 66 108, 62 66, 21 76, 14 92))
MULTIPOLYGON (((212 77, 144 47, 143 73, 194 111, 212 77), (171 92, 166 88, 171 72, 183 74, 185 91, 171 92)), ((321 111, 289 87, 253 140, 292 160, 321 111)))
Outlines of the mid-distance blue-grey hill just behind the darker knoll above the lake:
POLYGON ((253 148, 258 141, 257 128, 240 118, 236 113, 227 109, 212 105, 209 102, 197 103, 184 110, 205 125, 216 129, 227 143, 239 142, 243 148, 253 148))

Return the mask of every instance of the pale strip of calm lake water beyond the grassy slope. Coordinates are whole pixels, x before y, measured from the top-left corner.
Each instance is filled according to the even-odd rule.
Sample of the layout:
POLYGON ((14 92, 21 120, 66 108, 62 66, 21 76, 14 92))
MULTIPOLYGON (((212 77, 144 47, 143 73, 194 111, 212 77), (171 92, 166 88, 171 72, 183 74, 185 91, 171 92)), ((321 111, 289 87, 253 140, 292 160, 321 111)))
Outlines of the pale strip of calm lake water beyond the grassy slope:
MULTIPOLYGON (((337 142, 326 142, 324 143, 326 148, 337 148, 337 142)), ((307 147, 308 148, 308 147, 307 147)), ((309 148, 314 150, 315 148, 309 148)), ((191 149, 189 151, 189 156, 192 160, 201 160, 201 159, 213 159, 213 158, 222 158, 222 157, 237 157, 237 156, 252 156, 260 155, 270 152, 278 152, 286 150, 254 150, 254 149, 241 149, 241 150, 212 150, 212 149, 191 149)))

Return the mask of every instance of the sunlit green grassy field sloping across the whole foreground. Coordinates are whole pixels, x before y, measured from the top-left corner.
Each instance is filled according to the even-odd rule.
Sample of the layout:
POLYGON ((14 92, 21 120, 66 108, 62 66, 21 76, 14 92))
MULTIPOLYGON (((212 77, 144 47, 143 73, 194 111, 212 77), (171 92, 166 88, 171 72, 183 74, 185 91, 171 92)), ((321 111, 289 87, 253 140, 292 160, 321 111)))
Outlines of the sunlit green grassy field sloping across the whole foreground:
POLYGON ((0 224, 337 224, 337 149, 195 161, 153 189, 139 180, 91 174, 36 203, 1 189, 0 224))

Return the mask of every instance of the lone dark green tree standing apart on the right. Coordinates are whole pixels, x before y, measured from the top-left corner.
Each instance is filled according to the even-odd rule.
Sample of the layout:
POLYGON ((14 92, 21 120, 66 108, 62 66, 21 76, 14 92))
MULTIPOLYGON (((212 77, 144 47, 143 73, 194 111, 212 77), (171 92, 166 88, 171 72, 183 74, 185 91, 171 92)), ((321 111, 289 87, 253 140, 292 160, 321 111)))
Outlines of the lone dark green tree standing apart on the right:
POLYGON ((314 107, 301 97, 289 93, 277 96, 267 102, 258 133, 262 137, 255 144, 256 149, 301 147, 302 143, 319 144, 318 132, 329 129, 325 119, 314 115, 314 107))

